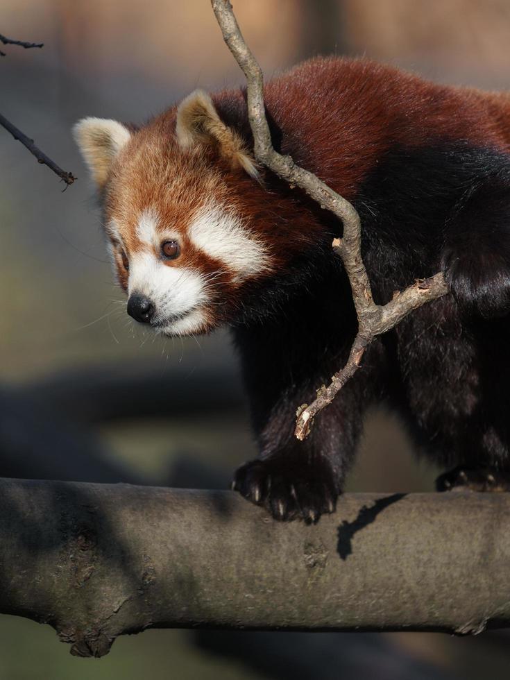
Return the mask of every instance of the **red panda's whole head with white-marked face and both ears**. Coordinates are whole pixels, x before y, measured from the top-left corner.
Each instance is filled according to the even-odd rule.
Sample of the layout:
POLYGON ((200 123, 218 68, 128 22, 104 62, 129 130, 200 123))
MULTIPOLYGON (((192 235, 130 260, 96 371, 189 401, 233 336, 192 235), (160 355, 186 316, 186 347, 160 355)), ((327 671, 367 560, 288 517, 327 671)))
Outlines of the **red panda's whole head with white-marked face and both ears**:
POLYGON ((275 248, 291 220, 205 92, 137 130, 87 118, 74 135, 137 321, 169 335, 235 321, 246 290, 269 282, 300 248, 297 234, 275 248))

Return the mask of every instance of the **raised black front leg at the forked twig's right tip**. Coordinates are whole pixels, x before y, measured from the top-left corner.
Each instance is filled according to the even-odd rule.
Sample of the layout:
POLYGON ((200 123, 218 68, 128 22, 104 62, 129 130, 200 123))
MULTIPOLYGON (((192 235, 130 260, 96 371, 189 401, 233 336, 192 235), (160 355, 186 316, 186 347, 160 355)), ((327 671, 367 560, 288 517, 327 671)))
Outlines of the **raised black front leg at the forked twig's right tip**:
POLYGON ((441 264, 464 314, 510 312, 510 171, 466 192, 446 225, 441 264))

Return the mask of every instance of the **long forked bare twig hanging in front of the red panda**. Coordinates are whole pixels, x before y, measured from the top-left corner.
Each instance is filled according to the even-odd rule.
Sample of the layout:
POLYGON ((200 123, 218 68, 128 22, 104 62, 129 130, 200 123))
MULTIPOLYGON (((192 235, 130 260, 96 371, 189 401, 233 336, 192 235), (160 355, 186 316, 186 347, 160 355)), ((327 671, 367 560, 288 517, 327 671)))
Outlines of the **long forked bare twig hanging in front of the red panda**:
POLYGON ((443 274, 437 273, 431 278, 416 281, 386 305, 374 303, 370 280, 362 260, 359 214, 349 201, 330 189, 313 173, 296 165, 290 156, 275 151, 264 110, 262 70, 244 42, 230 2, 211 0, 211 4, 223 33, 223 40, 246 76, 248 119, 253 133, 256 160, 280 178, 287 180, 290 185, 303 189, 308 196, 317 201, 321 207, 330 210, 343 223, 343 237, 334 239, 333 247, 341 257, 350 281, 358 319, 358 332, 346 365, 333 375, 329 386, 318 389, 317 398, 312 404, 304 404, 298 409, 295 434, 298 439, 305 439, 314 416, 332 402, 337 392, 354 375, 367 346, 373 339, 396 326, 409 312, 448 293, 448 288, 443 274))

